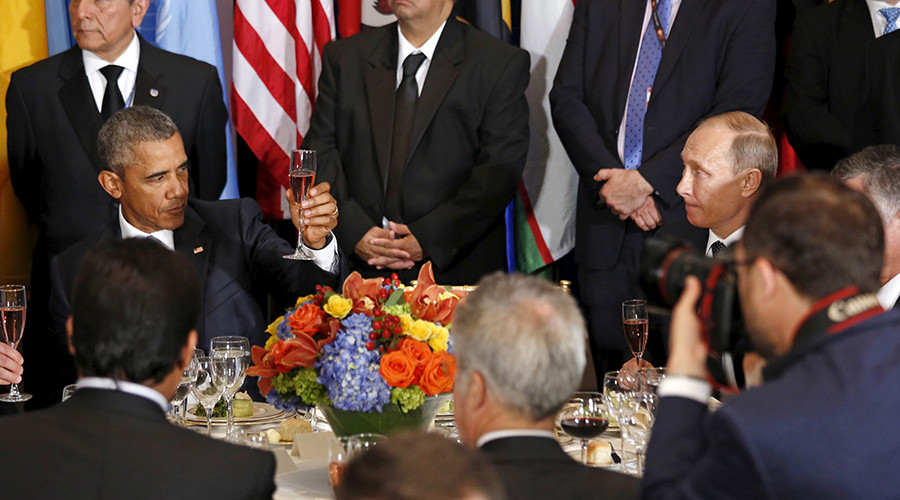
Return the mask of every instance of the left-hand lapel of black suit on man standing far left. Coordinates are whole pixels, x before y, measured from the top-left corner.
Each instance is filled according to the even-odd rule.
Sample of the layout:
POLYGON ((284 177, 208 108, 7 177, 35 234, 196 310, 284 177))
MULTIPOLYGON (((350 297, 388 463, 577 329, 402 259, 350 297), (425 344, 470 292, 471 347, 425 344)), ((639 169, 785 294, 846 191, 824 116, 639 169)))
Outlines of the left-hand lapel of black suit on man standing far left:
POLYGON ((97 134, 103 124, 91 93, 91 86, 84 74, 84 62, 78 47, 63 54, 59 75, 65 81, 59 89, 59 100, 72 123, 72 129, 78 135, 81 146, 99 172, 103 170, 103 163, 97 155, 97 134))

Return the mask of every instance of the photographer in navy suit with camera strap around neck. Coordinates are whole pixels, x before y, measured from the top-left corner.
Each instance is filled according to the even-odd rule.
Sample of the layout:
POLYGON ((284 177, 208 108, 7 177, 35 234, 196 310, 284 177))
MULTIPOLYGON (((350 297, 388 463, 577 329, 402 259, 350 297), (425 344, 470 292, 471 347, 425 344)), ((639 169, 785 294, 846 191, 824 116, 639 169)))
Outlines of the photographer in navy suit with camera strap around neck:
POLYGON ((900 312, 875 292, 884 236, 865 195, 821 175, 763 192, 736 245, 765 383, 708 414, 689 276, 671 324, 644 498, 887 498, 900 491, 900 312))

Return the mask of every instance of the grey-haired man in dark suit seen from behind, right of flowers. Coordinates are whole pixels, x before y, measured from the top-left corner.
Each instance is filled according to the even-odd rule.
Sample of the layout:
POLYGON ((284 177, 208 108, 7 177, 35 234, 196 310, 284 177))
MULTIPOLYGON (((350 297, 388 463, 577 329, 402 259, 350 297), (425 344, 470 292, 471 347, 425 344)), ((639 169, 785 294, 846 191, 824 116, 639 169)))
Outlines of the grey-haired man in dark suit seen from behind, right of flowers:
POLYGON ((494 464, 508 498, 638 498, 637 479, 581 465, 554 439, 584 373, 586 336, 571 297, 524 275, 485 277, 456 311, 459 434, 494 464))

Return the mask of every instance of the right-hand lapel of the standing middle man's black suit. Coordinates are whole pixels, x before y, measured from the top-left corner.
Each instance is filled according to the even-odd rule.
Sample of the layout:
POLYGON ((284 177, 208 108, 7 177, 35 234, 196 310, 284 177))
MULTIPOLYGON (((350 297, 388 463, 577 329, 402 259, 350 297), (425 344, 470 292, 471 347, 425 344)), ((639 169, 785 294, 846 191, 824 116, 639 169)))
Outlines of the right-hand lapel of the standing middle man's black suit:
POLYGON ((416 105, 413 135, 410 137, 409 151, 406 155, 407 162, 418 147, 422 136, 425 135, 425 131, 444 101, 447 91, 456 80, 456 76, 459 74, 456 65, 462 62, 465 56, 462 25, 451 17, 444 26, 441 39, 438 40, 437 48, 434 51, 434 60, 431 61, 431 66, 428 68, 425 86, 422 88, 419 103, 416 105))

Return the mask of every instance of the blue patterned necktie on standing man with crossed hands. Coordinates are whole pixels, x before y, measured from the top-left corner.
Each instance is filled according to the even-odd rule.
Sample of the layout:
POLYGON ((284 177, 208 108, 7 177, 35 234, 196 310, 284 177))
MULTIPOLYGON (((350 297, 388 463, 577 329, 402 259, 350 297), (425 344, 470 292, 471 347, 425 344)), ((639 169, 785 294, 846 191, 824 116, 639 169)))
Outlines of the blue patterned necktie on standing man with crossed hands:
MULTIPOLYGON (((669 0, 660 0, 657 5, 659 22, 663 27, 669 24, 669 0)), ((641 51, 638 54, 631 90, 628 91, 628 109, 625 110, 625 168, 629 170, 641 166, 641 154, 644 149, 644 114, 647 112, 647 101, 659 60, 662 59, 662 43, 653 25, 653 19, 647 22, 641 51)))

